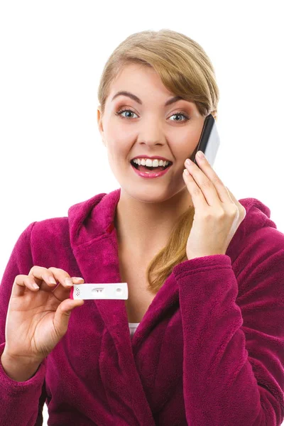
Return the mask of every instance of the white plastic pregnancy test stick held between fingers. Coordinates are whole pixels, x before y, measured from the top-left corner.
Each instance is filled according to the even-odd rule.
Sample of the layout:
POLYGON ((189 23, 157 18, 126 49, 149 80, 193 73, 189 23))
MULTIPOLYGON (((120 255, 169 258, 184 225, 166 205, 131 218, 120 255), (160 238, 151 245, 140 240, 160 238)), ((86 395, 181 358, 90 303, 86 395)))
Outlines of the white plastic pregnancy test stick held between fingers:
POLYGON ((70 290, 70 299, 73 300, 127 300, 128 298, 129 289, 127 283, 74 284, 70 290))

